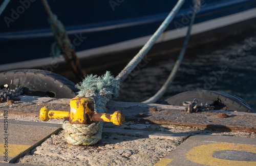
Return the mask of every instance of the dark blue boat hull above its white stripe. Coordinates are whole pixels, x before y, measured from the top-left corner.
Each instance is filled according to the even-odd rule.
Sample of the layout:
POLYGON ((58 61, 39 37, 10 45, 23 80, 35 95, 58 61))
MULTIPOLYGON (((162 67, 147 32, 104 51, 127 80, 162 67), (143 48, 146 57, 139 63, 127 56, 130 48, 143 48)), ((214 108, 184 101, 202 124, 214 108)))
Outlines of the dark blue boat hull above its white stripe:
MULTIPOLYGON (((175 4, 176 1, 167 0, 49 1, 77 52, 152 35, 175 4)), ((186 1, 166 31, 179 33, 187 26, 192 5, 191 1, 186 1)), ((256 1, 252 0, 202 1, 195 24, 254 8, 256 1)), ((47 18, 39 0, 11 1, 0 16, 0 65, 48 58, 54 36, 47 18)))

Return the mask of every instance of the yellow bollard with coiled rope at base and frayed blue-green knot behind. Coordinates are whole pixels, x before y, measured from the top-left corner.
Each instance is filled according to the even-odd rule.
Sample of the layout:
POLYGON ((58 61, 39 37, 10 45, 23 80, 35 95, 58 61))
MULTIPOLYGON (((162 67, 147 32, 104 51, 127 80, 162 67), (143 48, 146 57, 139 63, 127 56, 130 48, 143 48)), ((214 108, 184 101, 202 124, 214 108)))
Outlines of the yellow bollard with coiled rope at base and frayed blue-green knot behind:
POLYGON ((70 101, 70 113, 64 112, 60 115, 58 111, 44 107, 40 110, 40 119, 42 121, 50 118, 69 119, 70 121, 65 121, 62 125, 66 131, 66 141, 72 145, 93 145, 101 139, 102 122, 113 122, 115 125, 124 123, 125 117, 120 111, 112 115, 104 114, 106 103, 118 97, 119 81, 107 71, 101 77, 96 75, 85 77, 76 88, 80 91, 78 97, 70 101), (79 115, 73 115, 78 112, 79 115))

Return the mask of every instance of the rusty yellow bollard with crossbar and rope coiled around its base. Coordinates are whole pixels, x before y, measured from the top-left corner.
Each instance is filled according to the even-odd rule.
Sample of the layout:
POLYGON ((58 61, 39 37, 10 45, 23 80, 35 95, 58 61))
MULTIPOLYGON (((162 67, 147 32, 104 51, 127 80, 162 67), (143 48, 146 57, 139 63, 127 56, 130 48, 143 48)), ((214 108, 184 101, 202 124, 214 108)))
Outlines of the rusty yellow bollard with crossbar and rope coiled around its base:
POLYGON ((62 127, 66 131, 65 139, 72 145, 93 145, 101 139, 102 127, 100 122, 112 122, 122 125, 125 116, 120 110, 114 114, 94 113, 94 101, 87 97, 76 97, 70 100, 70 112, 40 109, 40 119, 66 119, 62 127), (69 121, 68 121, 69 120, 69 121))

